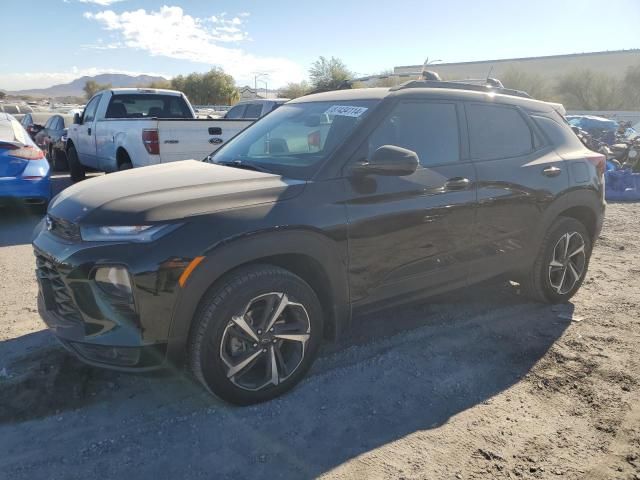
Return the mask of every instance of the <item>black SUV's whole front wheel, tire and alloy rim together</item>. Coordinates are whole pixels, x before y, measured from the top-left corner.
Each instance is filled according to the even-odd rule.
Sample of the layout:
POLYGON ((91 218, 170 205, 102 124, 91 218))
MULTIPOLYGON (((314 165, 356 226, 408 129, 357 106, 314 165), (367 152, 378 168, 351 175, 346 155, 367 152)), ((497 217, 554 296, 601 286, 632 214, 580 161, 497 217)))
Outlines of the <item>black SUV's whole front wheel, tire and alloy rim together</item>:
POLYGON ((194 318, 189 363, 213 394, 237 405, 290 390, 313 363, 322 338, 322 307, 300 277, 253 265, 223 278, 194 318))

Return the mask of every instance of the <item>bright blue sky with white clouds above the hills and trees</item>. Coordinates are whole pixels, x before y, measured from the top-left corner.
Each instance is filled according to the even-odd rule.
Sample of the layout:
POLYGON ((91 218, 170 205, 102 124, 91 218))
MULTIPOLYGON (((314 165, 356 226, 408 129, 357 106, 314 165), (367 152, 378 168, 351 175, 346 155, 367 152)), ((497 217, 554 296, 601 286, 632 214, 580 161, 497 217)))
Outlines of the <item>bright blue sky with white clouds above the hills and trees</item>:
POLYGON ((640 48, 640 0, 0 0, 0 88, 85 74, 171 77, 217 65, 238 84, 306 77, 320 55, 358 75, 640 48))

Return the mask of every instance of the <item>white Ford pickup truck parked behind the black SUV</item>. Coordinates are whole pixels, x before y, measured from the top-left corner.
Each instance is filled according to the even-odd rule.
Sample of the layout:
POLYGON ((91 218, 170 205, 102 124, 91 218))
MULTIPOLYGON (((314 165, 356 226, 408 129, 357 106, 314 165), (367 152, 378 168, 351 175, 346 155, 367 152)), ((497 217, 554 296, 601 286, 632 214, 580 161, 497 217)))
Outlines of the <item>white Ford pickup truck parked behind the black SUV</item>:
POLYGON ((66 152, 71 179, 86 169, 114 172, 202 160, 255 119, 197 119, 182 92, 114 88, 96 93, 74 117, 66 152))

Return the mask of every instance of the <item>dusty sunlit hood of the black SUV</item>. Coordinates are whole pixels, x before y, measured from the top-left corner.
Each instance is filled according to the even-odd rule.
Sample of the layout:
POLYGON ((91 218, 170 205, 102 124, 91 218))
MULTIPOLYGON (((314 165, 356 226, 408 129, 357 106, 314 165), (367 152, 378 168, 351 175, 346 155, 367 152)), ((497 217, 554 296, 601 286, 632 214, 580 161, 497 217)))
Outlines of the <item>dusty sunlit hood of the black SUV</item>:
POLYGON ((54 199, 49 213, 87 225, 139 225, 286 200, 298 195, 304 184, 185 160, 77 183, 54 199))

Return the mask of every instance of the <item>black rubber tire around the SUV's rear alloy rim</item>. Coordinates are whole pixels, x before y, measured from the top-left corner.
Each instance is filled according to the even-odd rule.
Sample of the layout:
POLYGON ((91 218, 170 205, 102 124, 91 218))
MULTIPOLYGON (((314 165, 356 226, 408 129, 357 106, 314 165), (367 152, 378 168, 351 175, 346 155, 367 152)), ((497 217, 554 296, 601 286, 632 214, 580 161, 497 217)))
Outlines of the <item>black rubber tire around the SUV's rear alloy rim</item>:
MULTIPOLYGON (((579 250, 579 243, 576 243, 575 245, 576 246, 572 248, 574 250, 579 250)), ((530 297, 532 300, 542 303, 555 304, 569 301, 569 299, 571 299, 571 297, 573 297, 582 286, 582 282, 584 281, 589 267, 591 250, 591 236, 589 235, 589 232, 587 231, 584 224, 582 224, 575 218, 559 217, 555 222, 553 222, 553 224, 547 231, 533 267, 531 268, 525 279, 522 281, 521 287, 523 293, 530 297), (581 262, 582 268, 577 268, 579 266, 572 264, 574 271, 576 271, 577 269, 579 273, 579 278, 575 280, 573 286, 570 287, 570 285, 565 282, 564 277, 561 277, 560 281, 556 281, 554 286, 552 277, 554 275, 561 276, 563 267, 555 267, 551 264, 555 259, 556 247, 562 250, 563 244, 559 242, 563 241, 563 238, 566 238, 565 235, 567 234, 570 235, 569 238, 574 239, 572 241, 579 242, 581 240, 584 244, 584 257, 580 256, 580 259, 583 260, 583 262, 581 262), (576 237, 576 234, 579 235, 580 238, 576 237), (554 273, 553 269, 560 270, 556 270, 554 273), (562 289, 563 285, 565 286, 566 291, 562 289), (558 286, 560 286, 560 288, 558 288, 558 286)), ((564 267, 564 269, 566 274, 566 266, 564 267)), ((571 273, 569 273, 569 275, 575 278, 575 276, 571 273)), ((568 281, 573 281, 573 279, 570 278, 568 281)))

